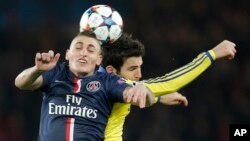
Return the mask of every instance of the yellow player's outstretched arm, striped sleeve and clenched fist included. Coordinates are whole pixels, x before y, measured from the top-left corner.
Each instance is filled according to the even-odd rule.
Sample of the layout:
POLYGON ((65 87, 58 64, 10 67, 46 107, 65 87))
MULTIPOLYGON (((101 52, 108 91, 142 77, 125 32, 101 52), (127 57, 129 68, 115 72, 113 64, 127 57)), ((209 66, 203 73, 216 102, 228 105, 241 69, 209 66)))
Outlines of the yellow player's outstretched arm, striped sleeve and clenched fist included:
POLYGON ((161 96, 176 92, 192 82, 204 72, 216 59, 233 59, 236 53, 235 44, 224 40, 213 49, 201 53, 192 62, 164 76, 144 80, 145 85, 154 93, 161 96))

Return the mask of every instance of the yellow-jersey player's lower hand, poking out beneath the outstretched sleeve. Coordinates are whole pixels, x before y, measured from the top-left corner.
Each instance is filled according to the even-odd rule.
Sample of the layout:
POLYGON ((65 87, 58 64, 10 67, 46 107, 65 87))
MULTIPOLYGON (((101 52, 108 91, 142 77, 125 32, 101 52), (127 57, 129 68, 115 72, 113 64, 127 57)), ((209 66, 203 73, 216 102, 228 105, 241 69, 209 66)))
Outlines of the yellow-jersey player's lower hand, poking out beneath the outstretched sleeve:
POLYGON ((160 102, 165 105, 184 104, 184 106, 188 106, 187 98, 178 92, 161 96, 160 102))

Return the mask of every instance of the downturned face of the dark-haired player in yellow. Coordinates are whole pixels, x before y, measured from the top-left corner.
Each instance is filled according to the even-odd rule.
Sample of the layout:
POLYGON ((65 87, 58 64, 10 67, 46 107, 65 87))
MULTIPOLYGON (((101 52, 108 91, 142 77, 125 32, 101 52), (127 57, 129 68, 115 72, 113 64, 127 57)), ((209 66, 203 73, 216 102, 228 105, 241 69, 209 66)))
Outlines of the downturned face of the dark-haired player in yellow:
POLYGON ((141 79, 142 57, 129 57, 124 61, 118 75, 125 79, 138 81, 141 79))

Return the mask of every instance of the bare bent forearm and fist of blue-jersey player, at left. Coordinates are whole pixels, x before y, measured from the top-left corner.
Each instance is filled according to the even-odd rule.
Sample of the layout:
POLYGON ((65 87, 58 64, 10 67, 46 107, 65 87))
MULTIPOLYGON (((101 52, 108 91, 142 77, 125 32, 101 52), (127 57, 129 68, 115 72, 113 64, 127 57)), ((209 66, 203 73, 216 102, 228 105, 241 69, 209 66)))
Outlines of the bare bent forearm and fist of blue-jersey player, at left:
POLYGON ((42 73, 55 67, 60 54, 54 56, 50 50, 48 53, 37 53, 35 57, 35 66, 22 71, 15 79, 15 85, 22 90, 38 89, 43 82, 42 73))

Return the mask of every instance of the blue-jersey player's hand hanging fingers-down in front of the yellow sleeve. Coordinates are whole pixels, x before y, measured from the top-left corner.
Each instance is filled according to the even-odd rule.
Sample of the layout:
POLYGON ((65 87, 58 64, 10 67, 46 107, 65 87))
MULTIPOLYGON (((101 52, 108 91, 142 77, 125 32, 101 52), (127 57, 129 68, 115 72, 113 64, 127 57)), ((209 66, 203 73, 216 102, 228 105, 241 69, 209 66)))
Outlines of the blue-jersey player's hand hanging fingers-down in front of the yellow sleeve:
POLYGON ((154 103, 153 93, 143 84, 137 84, 133 88, 126 89, 124 99, 128 103, 145 108, 154 103))

